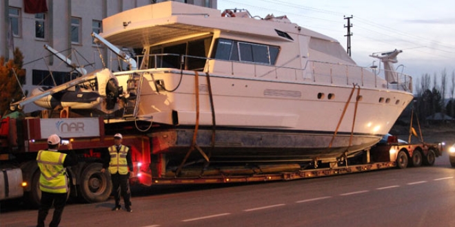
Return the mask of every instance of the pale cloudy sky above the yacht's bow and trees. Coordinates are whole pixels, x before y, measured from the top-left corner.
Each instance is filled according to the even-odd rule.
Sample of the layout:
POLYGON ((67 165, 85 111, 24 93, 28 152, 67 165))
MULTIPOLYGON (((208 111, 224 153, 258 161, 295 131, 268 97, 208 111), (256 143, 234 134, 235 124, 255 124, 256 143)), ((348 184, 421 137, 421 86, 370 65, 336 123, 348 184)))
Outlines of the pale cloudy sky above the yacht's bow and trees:
POLYGON ((438 84, 444 70, 447 80, 455 74, 454 0, 218 0, 217 4, 221 11, 246 9, 262 18, 286 15, 292 23, 338 40, 345 49, 344 16, 352 15, 351 50, 357 65, 370 67, 377 60, 370 54, 397 49, 403 53, 395 67, 411 75, 414 86, 423 74, 432 80, 436 75, 438 84))

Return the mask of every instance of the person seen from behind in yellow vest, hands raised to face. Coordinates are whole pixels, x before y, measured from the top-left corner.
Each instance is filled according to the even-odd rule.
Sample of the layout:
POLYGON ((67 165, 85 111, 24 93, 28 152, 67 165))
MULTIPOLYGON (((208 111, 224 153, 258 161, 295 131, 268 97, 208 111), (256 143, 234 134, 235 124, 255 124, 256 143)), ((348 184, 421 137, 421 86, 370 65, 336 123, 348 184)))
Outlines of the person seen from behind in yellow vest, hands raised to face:
MULTIPOLYGON (((39 177, 41 204, 38 211, 38 227, 44 226, 45 217, 48 216, 52 204, 55 210, 49 226, 59 226, 68 197, 66 167, 77 164, 77 155, 73 151, 59 152, 60 146, 60 137, 52 134, 48 138, 48 149, 39 151, 37 155, 37 164, 41 171, 39 177)), ((72 150, 72 144, 68 143, 68 149, 72 150)))

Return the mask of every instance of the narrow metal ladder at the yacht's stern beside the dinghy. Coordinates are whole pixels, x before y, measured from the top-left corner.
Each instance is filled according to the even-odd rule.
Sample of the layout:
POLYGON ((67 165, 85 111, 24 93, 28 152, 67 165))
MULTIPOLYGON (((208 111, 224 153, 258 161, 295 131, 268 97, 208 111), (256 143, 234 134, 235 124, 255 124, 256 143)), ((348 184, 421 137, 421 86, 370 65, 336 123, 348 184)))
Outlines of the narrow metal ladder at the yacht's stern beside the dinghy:
POLYGON ((123 118, 135 119, 141 98, 143 74, 132 73, 128 77, 126 85, 125 106, 123 107, 123 118))

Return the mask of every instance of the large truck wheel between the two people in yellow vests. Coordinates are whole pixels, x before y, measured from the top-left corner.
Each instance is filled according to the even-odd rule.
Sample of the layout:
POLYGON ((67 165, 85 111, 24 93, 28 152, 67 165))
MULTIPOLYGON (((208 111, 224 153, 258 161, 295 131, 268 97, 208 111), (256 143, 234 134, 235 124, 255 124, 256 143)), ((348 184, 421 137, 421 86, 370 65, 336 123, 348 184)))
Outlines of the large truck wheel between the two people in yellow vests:
POLYGON ((102 202, 110 196, 112 182, 109 173, 101 173, 101 168, 101 163, 92 163, 82 172, 79 191, 85 202, 102 202))

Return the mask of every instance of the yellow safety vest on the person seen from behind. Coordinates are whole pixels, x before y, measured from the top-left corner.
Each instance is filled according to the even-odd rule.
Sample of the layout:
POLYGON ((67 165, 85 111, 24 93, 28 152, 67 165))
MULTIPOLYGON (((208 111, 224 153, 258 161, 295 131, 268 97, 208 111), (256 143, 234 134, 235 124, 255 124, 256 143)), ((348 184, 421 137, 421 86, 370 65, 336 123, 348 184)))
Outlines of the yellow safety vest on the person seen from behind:
POLYGON ((37 163, 41 170, 39 189, 48 193, 68 193, 66 168, 63 167, 66 154, 58 151, 39 151, 37 163))

